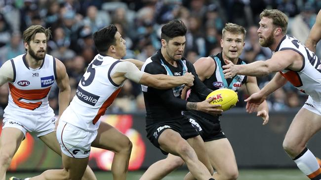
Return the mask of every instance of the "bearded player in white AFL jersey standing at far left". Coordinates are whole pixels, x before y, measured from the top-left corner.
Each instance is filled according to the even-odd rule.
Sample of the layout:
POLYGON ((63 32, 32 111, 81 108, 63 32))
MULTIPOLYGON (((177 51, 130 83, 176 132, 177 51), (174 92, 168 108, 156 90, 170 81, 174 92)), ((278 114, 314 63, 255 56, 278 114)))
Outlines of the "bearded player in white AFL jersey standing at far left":
MULTIPOLYGON (((50 87, 59 88, 59 115, 69 104, 70 86, 64 64, 46 54, 51 32, 40 25, 23 32, 26 54, 7 60, 0 68, 0 86, 9 83, 9 101, 4 110, 0 136, 0 180, 26 132, 36 135, 50 149, 61 155, 55 129, 55 115, 48 104, 50 87)), ((84 179, 95 180, 88 167, 84 179)))

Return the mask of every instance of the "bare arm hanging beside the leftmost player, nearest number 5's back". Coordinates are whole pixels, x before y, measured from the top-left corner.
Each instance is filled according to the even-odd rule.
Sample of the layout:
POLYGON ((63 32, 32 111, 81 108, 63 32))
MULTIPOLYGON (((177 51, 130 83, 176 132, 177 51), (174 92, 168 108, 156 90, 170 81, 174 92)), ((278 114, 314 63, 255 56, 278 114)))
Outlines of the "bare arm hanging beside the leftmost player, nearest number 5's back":
POLYGON ((56 71, 57 71, 57 85, 59 88, 59 117, 65 111, 70 102, 70 85, 69 77, 66 72, 65 65, 58 59, 56 59, 56 71))

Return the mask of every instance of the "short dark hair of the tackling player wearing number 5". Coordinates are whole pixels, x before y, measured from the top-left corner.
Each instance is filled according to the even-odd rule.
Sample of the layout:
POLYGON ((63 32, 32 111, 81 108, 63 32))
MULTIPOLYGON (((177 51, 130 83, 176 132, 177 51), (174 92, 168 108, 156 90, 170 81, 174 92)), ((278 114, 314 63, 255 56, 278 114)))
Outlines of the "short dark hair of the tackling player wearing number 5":
POLYGON ((115 25, 109 25, 100 29, 92 35, 98 53, 106 53, 110 46, 115 45, 115 34, 117 32, 115 25))

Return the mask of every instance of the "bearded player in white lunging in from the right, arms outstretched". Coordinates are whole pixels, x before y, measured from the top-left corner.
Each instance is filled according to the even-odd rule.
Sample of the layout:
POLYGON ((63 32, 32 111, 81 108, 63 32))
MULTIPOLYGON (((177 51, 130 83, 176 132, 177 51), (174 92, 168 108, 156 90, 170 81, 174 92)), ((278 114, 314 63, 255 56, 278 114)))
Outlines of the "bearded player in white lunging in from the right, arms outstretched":
POLYGON ((286 34, 288 18, 280 10, 263 10, 260 19, 259 43, 274 52, 271 59, 246 65, 229 63, 223 66, 225 78, 276 72, 262 90, 245 100, 249 112, 287 81, 309 95, 285 135, 283 149, 305 175, 311 180, 320 180, 321 168, 306 144, 321 129, 321 60, 296 38, 286 34))

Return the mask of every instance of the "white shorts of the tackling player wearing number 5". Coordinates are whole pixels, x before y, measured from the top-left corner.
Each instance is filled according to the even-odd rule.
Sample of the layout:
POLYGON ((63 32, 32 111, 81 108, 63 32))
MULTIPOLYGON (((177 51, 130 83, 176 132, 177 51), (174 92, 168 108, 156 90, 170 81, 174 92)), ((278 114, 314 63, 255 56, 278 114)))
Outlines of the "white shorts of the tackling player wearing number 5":
POLYGON ((97 130, 86 131, 64 121, 59 121, 56 133, 61 151, 74 158, 88 157, 91 143, 97 136, 97 130))

